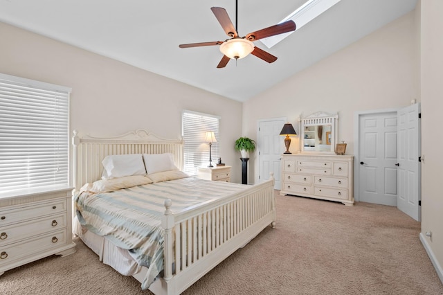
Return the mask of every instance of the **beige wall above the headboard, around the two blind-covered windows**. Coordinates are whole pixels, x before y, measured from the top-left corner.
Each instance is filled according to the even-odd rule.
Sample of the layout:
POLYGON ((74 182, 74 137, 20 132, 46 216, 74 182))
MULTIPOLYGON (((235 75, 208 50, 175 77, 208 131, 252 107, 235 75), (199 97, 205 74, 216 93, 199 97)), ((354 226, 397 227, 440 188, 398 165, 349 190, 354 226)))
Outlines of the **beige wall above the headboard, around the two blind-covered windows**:
POLYGON ((0 72, 72 87, 71 130, 121 134, 147 129, 181 135, 181 111, 221 117, 221 157, 241 182, 233 146, 242 136, 242 103, 74 46, 0 23, 0 72))

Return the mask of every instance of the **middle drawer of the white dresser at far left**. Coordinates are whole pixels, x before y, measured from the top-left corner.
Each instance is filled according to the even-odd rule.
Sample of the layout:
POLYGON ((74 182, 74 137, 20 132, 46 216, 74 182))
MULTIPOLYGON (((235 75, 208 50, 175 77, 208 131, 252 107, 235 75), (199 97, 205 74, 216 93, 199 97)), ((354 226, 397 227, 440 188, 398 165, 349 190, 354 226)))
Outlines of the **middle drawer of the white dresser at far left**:
POLYGON ((0 247, 11 242, 23 240, 32 235, 56 231, 57 229, 63 229, 65 227, 66 213, 2 227, 0 229, 0 247))

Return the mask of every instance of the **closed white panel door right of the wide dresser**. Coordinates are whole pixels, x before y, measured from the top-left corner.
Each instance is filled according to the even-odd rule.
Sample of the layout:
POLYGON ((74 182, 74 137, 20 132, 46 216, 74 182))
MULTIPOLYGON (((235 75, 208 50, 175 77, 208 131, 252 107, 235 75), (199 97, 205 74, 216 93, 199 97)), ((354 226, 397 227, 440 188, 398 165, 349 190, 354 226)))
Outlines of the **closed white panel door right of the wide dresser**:
POLYGON ((397 111, 359 116, 359 201, 397 206, 397 111))

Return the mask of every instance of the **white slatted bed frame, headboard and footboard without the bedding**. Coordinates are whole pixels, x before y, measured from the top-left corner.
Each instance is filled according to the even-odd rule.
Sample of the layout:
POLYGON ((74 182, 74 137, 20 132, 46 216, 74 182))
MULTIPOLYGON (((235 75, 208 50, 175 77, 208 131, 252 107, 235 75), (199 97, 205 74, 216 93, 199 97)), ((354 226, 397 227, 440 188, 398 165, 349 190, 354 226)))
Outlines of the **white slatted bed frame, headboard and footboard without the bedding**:
MULTIPOLYGON (((183 168, 183 140, 164 139, 138 129, 114 137, 72 138, 74 193, 102 175, 102 159, 109 154, 174 154, 183 168)), ((248 186, 244 193, 195 206, 180 213, 165 201, 164 275, 150 286, 154 294, 180 294, 237 249, 244 247, 266 226, 275 227, 274 179, 248 186)), ((143 280, 143 274, 134 278, 143 280)))

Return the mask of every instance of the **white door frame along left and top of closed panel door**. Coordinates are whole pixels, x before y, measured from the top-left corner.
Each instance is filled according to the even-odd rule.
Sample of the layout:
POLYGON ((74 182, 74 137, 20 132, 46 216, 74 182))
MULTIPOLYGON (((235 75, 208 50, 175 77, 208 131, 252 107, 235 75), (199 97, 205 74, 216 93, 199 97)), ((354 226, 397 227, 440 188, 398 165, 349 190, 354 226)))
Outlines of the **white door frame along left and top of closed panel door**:
POLYGON ((359 155, 359 142, 360 142, 360 117, 370 114, 383 114, 398 112, 400 107, 392 109, 372 109, 369 111, 355 111, 354 112, 354 199, 355 202, 360 202, 360 155, 359 155))

